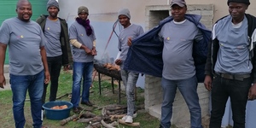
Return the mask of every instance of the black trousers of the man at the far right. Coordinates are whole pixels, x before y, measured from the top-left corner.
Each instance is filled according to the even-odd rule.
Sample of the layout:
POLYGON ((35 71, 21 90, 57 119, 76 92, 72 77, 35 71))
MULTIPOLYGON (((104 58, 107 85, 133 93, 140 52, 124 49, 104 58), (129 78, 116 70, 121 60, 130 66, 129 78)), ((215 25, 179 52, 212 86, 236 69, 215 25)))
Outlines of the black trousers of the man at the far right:
POLYGON ((245 127, 245 114, 248 90, 251 79, 223 79, 219 75, 212 80, 212 111, 210 128, 220 128, 226 102, 230 96, 233 128, 245 127))

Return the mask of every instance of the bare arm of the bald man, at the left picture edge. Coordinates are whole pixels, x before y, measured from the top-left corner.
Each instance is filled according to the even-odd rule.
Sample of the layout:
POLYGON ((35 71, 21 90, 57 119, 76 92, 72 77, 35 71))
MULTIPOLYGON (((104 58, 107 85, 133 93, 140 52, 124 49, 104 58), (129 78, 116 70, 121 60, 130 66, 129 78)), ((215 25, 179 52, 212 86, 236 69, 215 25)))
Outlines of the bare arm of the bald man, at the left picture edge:
POLYGON ((3 75, 3 65, 5 60, 6 48, 7 48, 7 44, 0 43, 0 88, 4 88, 3 85, 6 84, 5 78, 3 75))

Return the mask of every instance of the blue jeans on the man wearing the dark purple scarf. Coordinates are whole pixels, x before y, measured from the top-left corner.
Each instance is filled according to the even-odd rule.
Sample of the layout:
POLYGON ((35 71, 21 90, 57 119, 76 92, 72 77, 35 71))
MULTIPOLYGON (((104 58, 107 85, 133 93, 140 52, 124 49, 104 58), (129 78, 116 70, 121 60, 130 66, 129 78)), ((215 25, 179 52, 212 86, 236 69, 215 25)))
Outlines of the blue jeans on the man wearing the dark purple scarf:
POLYGON ((79 107, 81 81, 83 78, 82 102, 89 102, 90 84, 92 82, 93 61, 73 62, 73 88, 72 98, 73 108, 79 107))

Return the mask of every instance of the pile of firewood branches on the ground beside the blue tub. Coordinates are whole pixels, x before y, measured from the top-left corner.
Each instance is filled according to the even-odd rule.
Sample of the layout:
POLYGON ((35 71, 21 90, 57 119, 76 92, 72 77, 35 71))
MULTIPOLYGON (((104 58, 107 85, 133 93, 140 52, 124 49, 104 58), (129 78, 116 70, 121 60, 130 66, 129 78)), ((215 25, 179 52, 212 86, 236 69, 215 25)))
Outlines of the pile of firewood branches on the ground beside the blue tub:
POLYGON ((127 111, 125 106, 108 105, 97 109, 102 109, 102 115, 96 115, 84 109, 79 114, 74 114, 67 119, 62 119, 61 125, 66 125, 69 121, 77 121, 87 124, 85 128, 116 128, 119 124, 140 127, 139 122, 127 124, 122 120, 127 111))

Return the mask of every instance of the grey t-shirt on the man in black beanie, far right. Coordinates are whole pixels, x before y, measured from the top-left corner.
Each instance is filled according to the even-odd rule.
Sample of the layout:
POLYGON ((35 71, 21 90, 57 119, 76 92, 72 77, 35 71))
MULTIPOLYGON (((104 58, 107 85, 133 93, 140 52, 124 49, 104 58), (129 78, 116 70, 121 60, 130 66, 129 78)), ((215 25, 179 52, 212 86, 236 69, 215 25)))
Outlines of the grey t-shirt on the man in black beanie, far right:
POLYGON ((213 27, 213 32, 219 41, 218 59, 214 67, 215 72, 251 73, 253 65, 249 60, 248 25, 247 18, 244 17, 240 26, 232 26, 232 17, 229 15, 223 20, 218 20, 215 27, 213 27))

